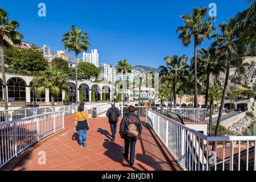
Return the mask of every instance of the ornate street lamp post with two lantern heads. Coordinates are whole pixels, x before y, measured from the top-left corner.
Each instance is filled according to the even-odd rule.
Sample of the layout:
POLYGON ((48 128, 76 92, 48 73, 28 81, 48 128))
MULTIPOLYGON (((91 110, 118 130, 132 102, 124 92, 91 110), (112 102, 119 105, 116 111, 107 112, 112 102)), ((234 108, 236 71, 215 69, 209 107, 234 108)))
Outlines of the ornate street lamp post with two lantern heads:
POLYGON ((174 67, 172 66, 171 62, 172 62, 172 57, 170 55, 168 55, 167 57, 164 58, 166 60, 166 63, 168 65, 169 68, 171 68, 172 70, 175 71, 175 78, 174 78, 174 107, 176 107, 177 101, 176 101, 176 82, 177 82, 177 71, 179 71, 180 69, 184 68, 185 65, 187 64, 187 60, 188 57, 186 55, 183 55, 182 57, 180 57, 181 60, 181 65, 178 65, 177 63, 174 65, 174 67))

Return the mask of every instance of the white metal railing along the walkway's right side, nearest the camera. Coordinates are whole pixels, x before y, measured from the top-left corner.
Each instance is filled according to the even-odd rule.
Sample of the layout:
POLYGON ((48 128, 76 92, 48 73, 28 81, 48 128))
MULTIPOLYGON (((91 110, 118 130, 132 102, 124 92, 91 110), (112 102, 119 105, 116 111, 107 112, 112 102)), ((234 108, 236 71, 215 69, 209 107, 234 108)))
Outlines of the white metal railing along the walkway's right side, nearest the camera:
POLYGON ((256 171, 256 136, 207 137, 154 110, 147 122, 184 170, 256 171))

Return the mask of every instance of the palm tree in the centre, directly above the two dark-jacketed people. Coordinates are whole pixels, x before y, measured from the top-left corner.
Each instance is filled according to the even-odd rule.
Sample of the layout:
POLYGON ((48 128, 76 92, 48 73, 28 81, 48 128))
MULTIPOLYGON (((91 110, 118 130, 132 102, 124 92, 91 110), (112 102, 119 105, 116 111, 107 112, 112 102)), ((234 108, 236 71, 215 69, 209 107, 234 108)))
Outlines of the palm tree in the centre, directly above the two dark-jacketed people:
POLYGON ((132 67, 131 64, 128 63, 128 60, 120 60, 117 65, 117 73, 121 73, 123 75, 123 106, 125 105, 125 74, 131 73, 132 67))

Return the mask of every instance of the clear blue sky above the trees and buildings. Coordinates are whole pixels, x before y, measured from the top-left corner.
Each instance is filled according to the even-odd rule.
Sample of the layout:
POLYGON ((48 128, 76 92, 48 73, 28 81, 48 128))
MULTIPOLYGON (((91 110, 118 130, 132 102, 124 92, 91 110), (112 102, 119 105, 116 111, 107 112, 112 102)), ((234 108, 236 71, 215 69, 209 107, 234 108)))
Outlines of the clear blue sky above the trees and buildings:
MULTIPOLYGON (((9 19, 18 20, 26 42, 46 44, 52 52, 63 50, 61 38, 75 24, 88 33, 92 43, 89 51, 98 49, 100 63, 115 65, 128 59, 132 65, 158 68, 168 54, 193 56, 193 46, 184 47, 177 38, 176 29, 183 24, 179 15, 212 2, 217 5, 214 24, 249 7, 242 0, 1 0, 0 7, 9 13, 9 19), (46 4, 46 17, 38 16, 40 2, 46 4)), ((205 41, 202 46, 209 44, 205 41)))

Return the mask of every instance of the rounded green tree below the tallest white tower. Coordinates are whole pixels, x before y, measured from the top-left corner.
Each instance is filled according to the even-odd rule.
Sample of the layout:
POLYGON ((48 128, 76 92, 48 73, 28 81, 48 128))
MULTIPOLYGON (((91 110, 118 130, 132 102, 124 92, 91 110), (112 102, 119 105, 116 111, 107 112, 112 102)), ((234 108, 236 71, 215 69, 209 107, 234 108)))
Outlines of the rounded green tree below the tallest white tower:
POLYGON ((89 80, 90 78, 96 78, 100 75, 100 69, 92 63, 82 62, 78 65, 78 72, 82 78, 89 80))

